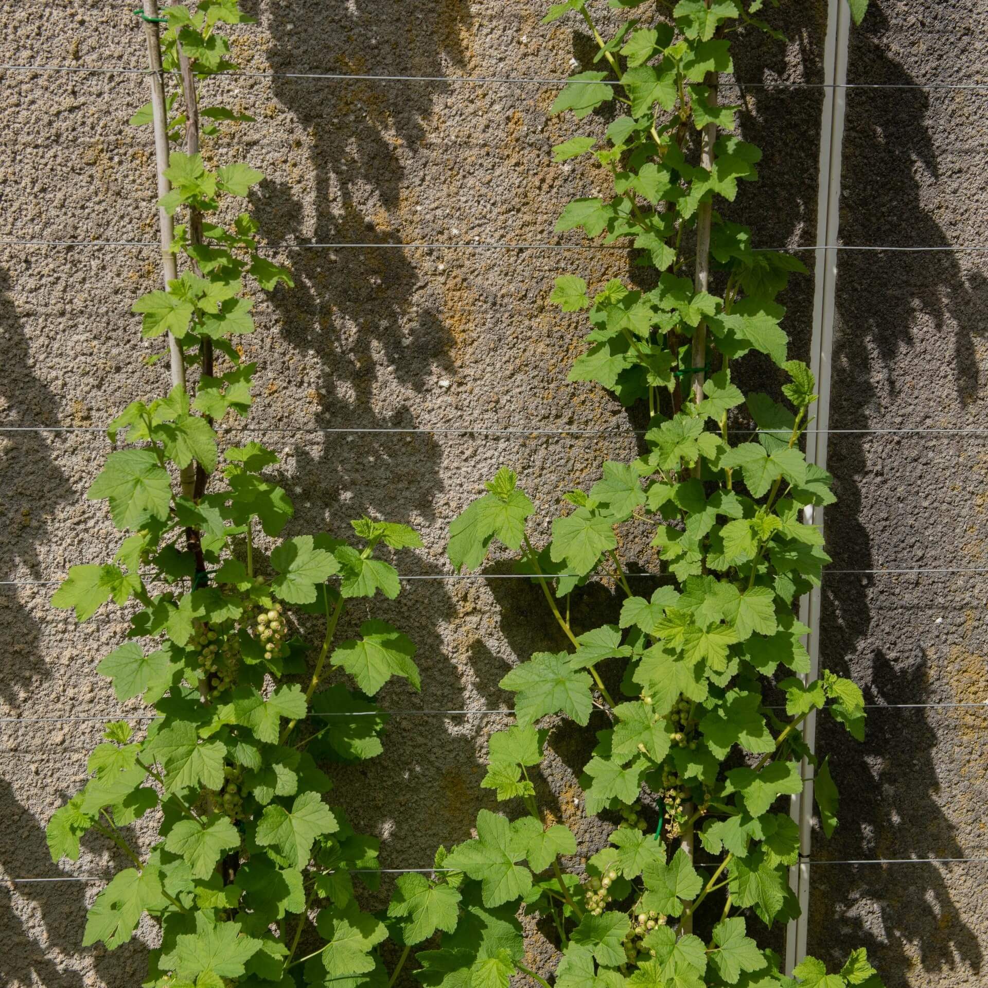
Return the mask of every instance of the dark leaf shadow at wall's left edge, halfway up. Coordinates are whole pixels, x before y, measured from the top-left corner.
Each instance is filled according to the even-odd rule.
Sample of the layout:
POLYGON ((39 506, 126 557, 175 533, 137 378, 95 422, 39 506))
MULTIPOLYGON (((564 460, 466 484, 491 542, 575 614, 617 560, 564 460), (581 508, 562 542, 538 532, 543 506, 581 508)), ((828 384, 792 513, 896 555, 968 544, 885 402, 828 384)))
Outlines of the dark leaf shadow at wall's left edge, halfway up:
MULTIPOLYGON (((10 295, 11 278, 0 268, 0 419, 8 426, 51 421, 58 398, 31 370, 30 345, 21 316, 10 295)), ((68 479, 53 455, 53 434, 0 434, 0 579, 47 580, 38 546, 48 541, 45 517, 72 497, 68 479), (21 574, 18 575, 18 563, 21 574), (24 573, 27 570, 27 574, 24 573)), ((25 603, 29 588, 0 587, 0 700, 17 710, 24 698, 50 678, 38 652, 40 623, 25 603)), ((35 588, 42 592, 50 588, 35 588)), ((43 608, 43 605, 41 605, 43 608)))

